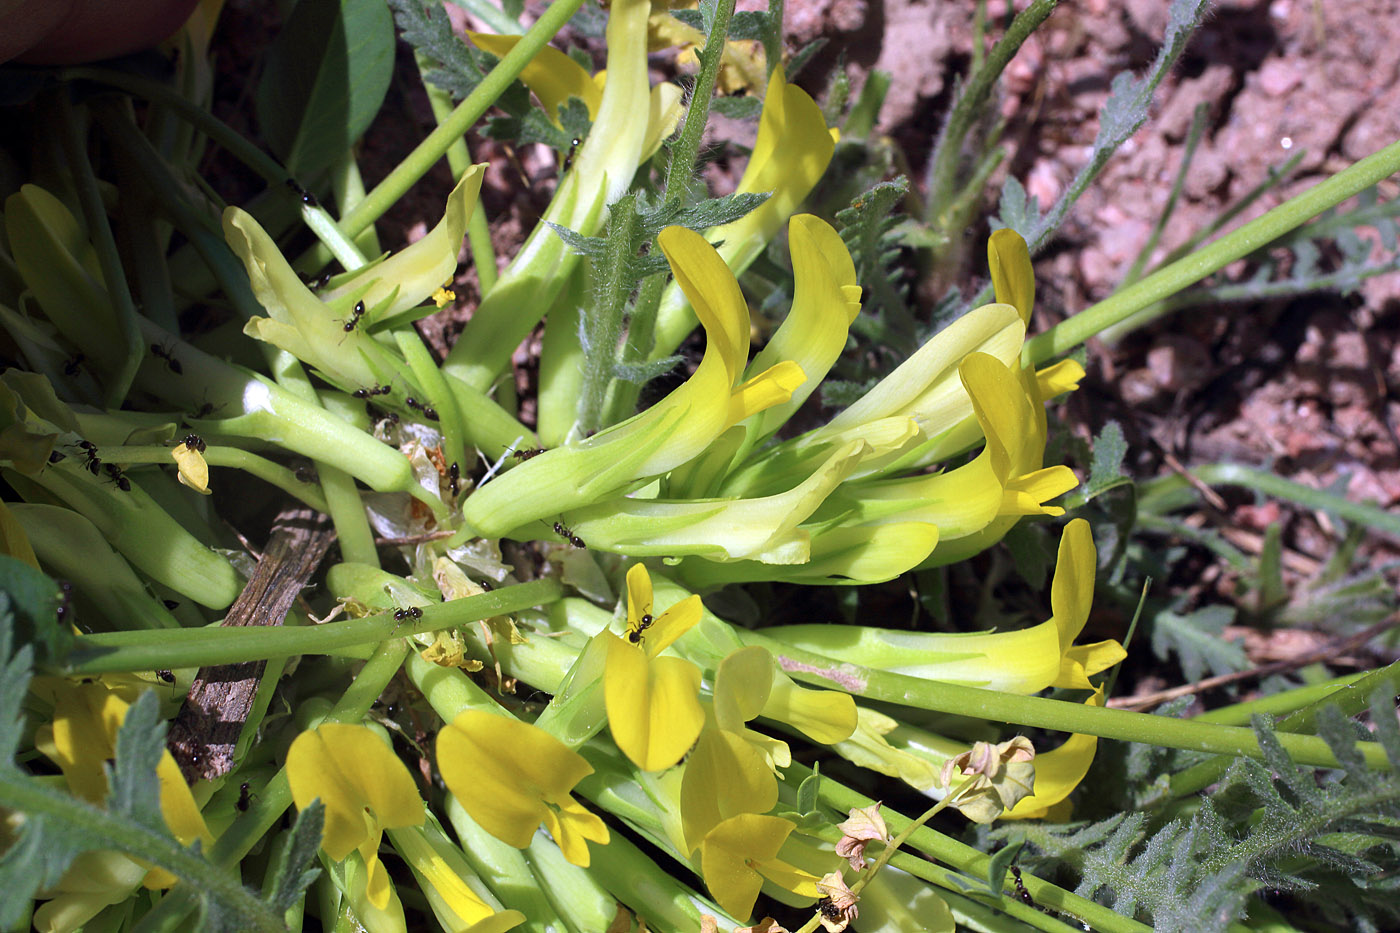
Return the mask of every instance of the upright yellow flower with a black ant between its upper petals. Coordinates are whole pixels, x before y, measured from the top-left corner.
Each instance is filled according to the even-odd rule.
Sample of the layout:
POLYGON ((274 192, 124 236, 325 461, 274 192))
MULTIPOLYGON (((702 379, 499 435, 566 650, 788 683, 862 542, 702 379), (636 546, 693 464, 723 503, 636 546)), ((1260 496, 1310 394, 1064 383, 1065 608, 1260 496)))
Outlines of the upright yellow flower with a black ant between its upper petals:
POLYGON ((694 744, 704 724, 700 668, 679 657, 659 657, 700 621, 692 595, 652 616, 651 576, 627 570, 627 635, 599 632, 608 646, 603 702, 613 741, 643 770, 671 768, 694 744))

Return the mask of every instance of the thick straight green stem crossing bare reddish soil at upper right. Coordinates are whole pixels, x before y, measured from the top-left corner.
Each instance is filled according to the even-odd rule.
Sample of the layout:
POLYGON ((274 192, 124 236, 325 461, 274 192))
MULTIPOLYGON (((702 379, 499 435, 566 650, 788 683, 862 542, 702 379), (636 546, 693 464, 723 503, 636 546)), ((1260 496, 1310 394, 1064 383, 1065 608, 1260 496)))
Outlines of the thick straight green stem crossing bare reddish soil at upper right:
POLYGON ((1274 207, 1263 217, 1249 221, 1208 247, 1154 272, 1085 308, 1068 321, 1026 340, 1022 359, 1040 364, 1070 352, 1121 321, 1131 318, 1134 328, 1147 324, 1158 317, 1158 314, 1147 314, 1147 308, 1162 298, 1173 296, 1205 276, 1219 272, 1231 262, 1268 245, 1288 231, 1301 227, 1309 219, 1329 207, 1336 207, 1396 171, 1400 171, 1400 141, 1366 156, 1331 178, 1274 207), (1135 317, 1140 312, 1142 312, 1141 317, 1135 317))

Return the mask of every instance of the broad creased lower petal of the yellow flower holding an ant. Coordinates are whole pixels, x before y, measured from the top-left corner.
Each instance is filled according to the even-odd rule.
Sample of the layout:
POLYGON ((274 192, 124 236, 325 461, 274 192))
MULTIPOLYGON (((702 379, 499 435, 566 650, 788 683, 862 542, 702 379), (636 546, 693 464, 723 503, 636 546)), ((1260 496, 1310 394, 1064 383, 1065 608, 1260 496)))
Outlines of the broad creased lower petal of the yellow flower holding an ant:
POLYGON ((613 741, 643 770, 671 768, 690 749, 704 710, 700 668, 678 657, 648 658, 608 635, 603 700, 613 741))

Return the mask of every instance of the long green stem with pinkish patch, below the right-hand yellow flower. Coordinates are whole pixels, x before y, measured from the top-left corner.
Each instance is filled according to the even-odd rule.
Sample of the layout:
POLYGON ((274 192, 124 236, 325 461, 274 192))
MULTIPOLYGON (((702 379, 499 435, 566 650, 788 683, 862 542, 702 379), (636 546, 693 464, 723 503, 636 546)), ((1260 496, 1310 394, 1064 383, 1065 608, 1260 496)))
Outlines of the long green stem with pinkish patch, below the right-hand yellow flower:
MULTIPOLYGON (((1196 723, 1039 696, 1016 696, 959 684, 939 684, 834 661, 774 642, 757 632, 741 629, 736 630, 736 635, 746 644, 762 644, 769 649, 788 675, 823 686, 834 685, 854 696, 914 706, 928 712, 1053 728, 1061 733, 1149 742, 1166 748, 1190 748, 1250 758, 1263 756, 1254 733, 1238 726, 1196 723)), ((1316 735, 1280 733, 1278 742, 1301 765, 1338 766, 1327 742, 1316 735)), ((1389 769, 1392 766, 1385 749, 1376 742, 1361 742, 1358 754, 1372 768, 1389 769)))

